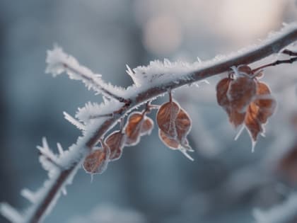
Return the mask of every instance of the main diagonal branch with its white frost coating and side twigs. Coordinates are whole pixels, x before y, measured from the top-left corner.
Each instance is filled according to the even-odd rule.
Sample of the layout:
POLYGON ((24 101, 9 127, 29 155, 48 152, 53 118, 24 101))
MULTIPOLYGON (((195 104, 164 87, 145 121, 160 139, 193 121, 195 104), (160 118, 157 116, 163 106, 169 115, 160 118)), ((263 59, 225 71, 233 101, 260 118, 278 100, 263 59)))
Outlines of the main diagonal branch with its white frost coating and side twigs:
POLYGON ((50 212, 61 193, 65 193, 65 186, 71 183, 78 168, 89 151, 95 147, 105 133, 114 127, 129 111, 139 105, 152 101, 164 93, 184 85, 194 84, 209 76, 227 72, 231 67, 240 64, 250 64, 264 57, 277 53, 287 45, 297 40, 297 24, 286 25, 279 33, 269 36, 259 45, 248 47, 231 55, 215 57, 206 62, 188 64, 184 62, 151 62, 148 67, 136 67, 127 70, 134 80, 134 85, 127 89, 119 89, 105 82, 100 76, 93 74, 86 67, 81 67, 74 57, 68 56, 61 49, 55 47, 47 55, 47 72, 54 75, 67 72, 71 79, 82 80, 88 88, 93 88, 98 93, 103 93, 109 99, 98 105, 87 103, 78 110, 76 118, 66 115, 66 119, 79 129, 83 136, 78 137, 76 144, 63 151, 60 146, 58 155, 49 152, 45 141, 40 147, 43 156, 40 159, 42 166, 49 171, 49 179, 36 193, 25 193, 33 203, 28 210, 19 213, 13 207, 2 204, 0 211, 11 222, 36 223, 50 212), (112 114, 106 116, 104 114, 112 114), (91 118, 97 115, 98 118, 91 118), (83 122, 83 124, 82 124, 83 122), (52 162, 54 161, 54 165, 52 162))

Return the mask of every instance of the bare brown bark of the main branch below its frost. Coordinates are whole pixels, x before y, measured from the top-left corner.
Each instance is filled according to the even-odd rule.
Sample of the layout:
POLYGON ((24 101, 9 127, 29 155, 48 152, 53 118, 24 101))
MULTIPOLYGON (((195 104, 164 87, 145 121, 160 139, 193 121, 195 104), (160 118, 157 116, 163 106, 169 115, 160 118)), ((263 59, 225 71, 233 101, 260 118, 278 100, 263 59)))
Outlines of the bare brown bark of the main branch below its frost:
MULTIPOLYGON (((118 115, 113 115, 112 117, 107 118, 105 122, 103 122, 103 124, 100 125, 100 127, 98 127, 98 130, 96 130, 91 137, 87 135, 87 138, 83 138, 82 140, 85 143, 81 144, 81 147, 86 147, 86 149, 92 149, 95 146, 95 144, 97 144, 99 140, 103 137, 103 135, 105 135, 105 132, 110 130, 110 127, 112 127, 116 122, 123 118, 124 115, 127 112, 129 112, 129 110, 138 107, 146 101, 152 100, 156 96, 160 96, 163 93, 168 92, 168 89, 178 88, 186 84, 192 84, 195 81, 206 79, 209 76, 214 76, 222 72, 228 72, 228 70, 232 66, 238 66, 240 64, 250 64, 252 62, 258 61, 264 57, 279 52, 279 50, 283 49, 291 42, 294 42, 296 40, 297 28, 287 31, 283 35, 279 35, 279 38, 271 40, 270 42, 267 42, 264 45, 259 46, 253 50, 250 50, 245 53, 239 53, 234 57, 229 57, 227 59, 221 60, 216 64, 210 64, 209 66, 206 66, 202 69, 198 69, 196 72, 188 74, 187 76, 183 76, 182 78, 177 79, 176 81, 170 81, 167 84, 152 86, 151 88, 148 88, 145 91, 137 93, 137 95, 132 96, 129 99, 124 99, 119 96, 115 96, 113 93, 106 91, 105 89, 101 88, 101 86, 98 86, 101 88, 102 91, 104 91, 108 95, 112 96, 113 98, 116 98, 118 101, 124 102, 125 105, 118 111, 118 115)), ((70 67, 67 68, 71 69, 70 67)), ((86 76, 86 79, 89 78, 86 76)), ((75 175, 79 165, 81 164, 81 161, 83 161, 85 156, 86 154, 79 155, 79 159, 74 161, 74 163, 68 169, 64 169, 63 171, 61 171, 61 173, 59 173, 57 178, 54 179, 54 183, 50 186, 50 190, 48 190, 45 197, 42 198, 42 200, 37 204, 35 210, 30 214, 30 217, 27 222, 37 223, 45 217, 45 213, 47 212, 48 207, 52 204, 52 201, 55 200, 55 198, 57 198, 57 194, 59 193, 60 189, 64 187, 65 182, 69 178, 71 178, 71 176, 75 175)))

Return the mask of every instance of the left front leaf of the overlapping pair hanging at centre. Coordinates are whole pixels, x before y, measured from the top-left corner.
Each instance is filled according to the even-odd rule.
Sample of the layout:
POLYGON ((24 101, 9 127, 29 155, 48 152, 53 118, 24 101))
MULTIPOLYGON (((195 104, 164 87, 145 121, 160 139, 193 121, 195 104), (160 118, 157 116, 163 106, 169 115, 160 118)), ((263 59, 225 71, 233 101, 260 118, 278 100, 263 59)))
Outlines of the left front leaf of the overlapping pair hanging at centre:
POLYGON ((164 103, 158 109, 157 123, 158 127, 170 138, 175 139, 177 137, 177 131, 175 127, 175 120, 177 114, 180 112, 180 105, 170 101, 164 103))

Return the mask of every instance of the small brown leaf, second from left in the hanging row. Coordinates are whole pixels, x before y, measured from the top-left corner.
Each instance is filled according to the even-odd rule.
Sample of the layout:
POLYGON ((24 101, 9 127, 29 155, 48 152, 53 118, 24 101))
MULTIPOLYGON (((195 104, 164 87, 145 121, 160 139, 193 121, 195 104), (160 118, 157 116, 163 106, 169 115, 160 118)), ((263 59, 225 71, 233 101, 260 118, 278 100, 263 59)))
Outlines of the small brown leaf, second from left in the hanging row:
POLYGON ((105 139, 105 144, 110 148, 110 161, 120 159, 124 147, 125 135, 122 131, 112 132, 105 139))

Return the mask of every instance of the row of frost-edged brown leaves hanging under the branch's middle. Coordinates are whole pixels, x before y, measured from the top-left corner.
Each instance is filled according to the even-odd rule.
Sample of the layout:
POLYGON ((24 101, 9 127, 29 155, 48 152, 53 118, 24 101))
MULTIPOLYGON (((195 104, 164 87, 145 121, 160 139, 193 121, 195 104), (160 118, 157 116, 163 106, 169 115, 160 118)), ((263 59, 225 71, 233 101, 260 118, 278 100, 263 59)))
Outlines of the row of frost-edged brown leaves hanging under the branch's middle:
POLYGON ((146 116, 151 108, 158 108, 156 120, 162 142, 170 149, 178 149, 192 159, 187 154, 187 151, 193 151, 187 141, 191 129, 190 117, 178 103, 170 99, 168 103, 157 107, 148 103, 141 113, 131 113, 121 130, 112 132, 105 140, 101 140, 101 147, 95 148, 86 156, 83 163, 85 171, 91 174, 103 173, 110 161, 120 159, 124 147, 132 147, 139 143, 141 136, 151 134, 153 120, 146 116))

